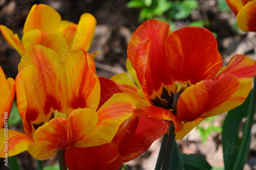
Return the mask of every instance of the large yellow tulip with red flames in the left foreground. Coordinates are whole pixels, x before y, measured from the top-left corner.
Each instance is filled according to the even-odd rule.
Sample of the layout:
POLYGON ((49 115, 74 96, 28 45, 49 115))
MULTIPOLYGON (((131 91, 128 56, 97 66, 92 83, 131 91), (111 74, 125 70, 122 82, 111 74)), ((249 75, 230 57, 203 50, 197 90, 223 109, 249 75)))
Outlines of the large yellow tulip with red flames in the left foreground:
POLYGON ((100 94, 108 95, 100 89, 107 87, 101 87, 93 58, 81 49, 68 50, 60 58, 51 48, 36 45, 18 70, 17 106, 25 134, 8 131, 8 156, 28 151, 44 160, 57 150, 108 143, 135 108, 124 93, 112 95, 98 108, 100 94))

